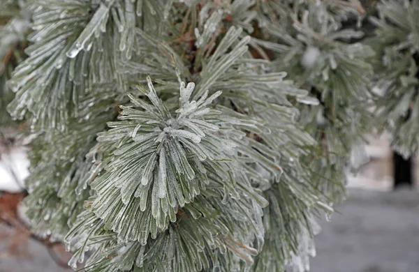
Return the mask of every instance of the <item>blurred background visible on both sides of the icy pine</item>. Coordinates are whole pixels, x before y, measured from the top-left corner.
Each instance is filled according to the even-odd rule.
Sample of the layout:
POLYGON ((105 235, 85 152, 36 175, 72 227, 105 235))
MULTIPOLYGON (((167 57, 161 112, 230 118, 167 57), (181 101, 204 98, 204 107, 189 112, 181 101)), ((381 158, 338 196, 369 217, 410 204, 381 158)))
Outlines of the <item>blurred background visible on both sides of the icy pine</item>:
MULTIPOLYGON (((358 174, 347 174, 348 198, 331 222, 320 222, 312 272, 419 271, 418 159, 410 162, 413 184, 399 180, 395 189, 395 167, 402 167, 398 179, 409 179, 409 169, 395 166, 387 135, 369 137, 369 142, 370 162, 358 174)), ((63 245, 28 232, 20 204, 22 179, 28 174, 26 151, 6 146, 0 162, 0 272, 71 271, 63 245)))

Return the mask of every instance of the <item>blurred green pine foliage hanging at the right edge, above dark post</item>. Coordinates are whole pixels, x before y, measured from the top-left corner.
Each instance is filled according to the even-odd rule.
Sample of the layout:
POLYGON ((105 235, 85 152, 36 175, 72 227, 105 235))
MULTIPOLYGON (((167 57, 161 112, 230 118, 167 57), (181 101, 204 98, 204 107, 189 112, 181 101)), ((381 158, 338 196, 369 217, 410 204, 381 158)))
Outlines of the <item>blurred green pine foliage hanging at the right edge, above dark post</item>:
POLYGON ((372 17, 376 37, 378 116, 392 133, 392 144, 409 158, 418 149, 419 1, 382 1, 372 17))

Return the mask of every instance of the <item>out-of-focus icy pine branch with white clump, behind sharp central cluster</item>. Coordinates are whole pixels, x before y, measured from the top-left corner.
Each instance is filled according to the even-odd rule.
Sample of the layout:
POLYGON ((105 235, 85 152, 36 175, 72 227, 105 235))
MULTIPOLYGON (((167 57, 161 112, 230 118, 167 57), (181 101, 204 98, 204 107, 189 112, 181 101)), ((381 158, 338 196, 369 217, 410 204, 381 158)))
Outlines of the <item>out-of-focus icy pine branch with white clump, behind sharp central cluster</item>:
POLYGON ((263 40, 257 42, 270 52, 275 70, 286 71, 320 101, 313 107, 316 100, 297 99, 308 105, 300 106, 300 122, 320 144, 308 163, 321 179, 317 182, 322 190, 340 198, 344 167, 348 162, 358 169, 366 162, 362 137, 372 127, 367 109, 372 75, 368 60, 374 52, 368 45, 351 43, 363 36, 362 31, 342 25, 349 19, 360 20, 365 12, 357 1, 291 2, 272 8, 284 10, 279 16, 262 17, 263 40), (315 154, 321 159, 312 160, 315 154))

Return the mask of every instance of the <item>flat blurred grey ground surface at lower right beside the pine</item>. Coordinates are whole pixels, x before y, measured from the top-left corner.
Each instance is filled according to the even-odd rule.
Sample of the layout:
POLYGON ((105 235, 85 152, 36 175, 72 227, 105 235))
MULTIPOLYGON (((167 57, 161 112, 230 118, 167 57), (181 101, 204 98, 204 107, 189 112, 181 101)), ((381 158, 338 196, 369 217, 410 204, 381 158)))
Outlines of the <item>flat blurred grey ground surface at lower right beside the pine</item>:
POLYGON ((311 272, 419 271, 417 191, 350 190, 337 211, 321 222, 311 272))

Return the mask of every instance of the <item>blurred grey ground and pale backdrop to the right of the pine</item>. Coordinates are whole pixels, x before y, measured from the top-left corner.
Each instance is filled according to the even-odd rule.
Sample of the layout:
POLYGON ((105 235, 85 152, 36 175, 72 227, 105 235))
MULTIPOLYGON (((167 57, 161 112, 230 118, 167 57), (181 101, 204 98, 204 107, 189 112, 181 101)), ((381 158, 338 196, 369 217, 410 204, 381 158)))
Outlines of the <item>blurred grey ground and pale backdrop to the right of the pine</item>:
POLYGON ((348 174, 348 199, 331 222, 321 222, 312 272, 419 271, 418 156, 409 185, 409 169, 394 160, 388 135, 369 142, 370 162, 348 174))

